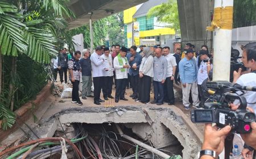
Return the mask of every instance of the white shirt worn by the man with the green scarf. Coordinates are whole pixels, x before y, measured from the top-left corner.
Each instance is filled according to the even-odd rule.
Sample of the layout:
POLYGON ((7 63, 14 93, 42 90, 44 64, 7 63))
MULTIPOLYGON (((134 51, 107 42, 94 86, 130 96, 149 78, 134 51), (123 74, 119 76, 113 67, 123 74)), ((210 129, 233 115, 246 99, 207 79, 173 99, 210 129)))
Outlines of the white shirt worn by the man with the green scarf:
MULTIPOLYGON (((125 58, 122 57, 122 60, 123 60, 123 64, 125 65, 126 63, 126 60, 125 58)), ((128 74, 128 69, 127 68, 124 68, 125 71, 124 72, 121 72, 121 69, 123 68, 123 66, 120 66, 119 65, 119 61, 118 61, 118 57, 116 56, 114 58, 114 61, 113 61, 113 65, 114 65, 114 69, 115 69, 115 79, 124 79, 124 78, 128 78, 127 74, 128 74)))

